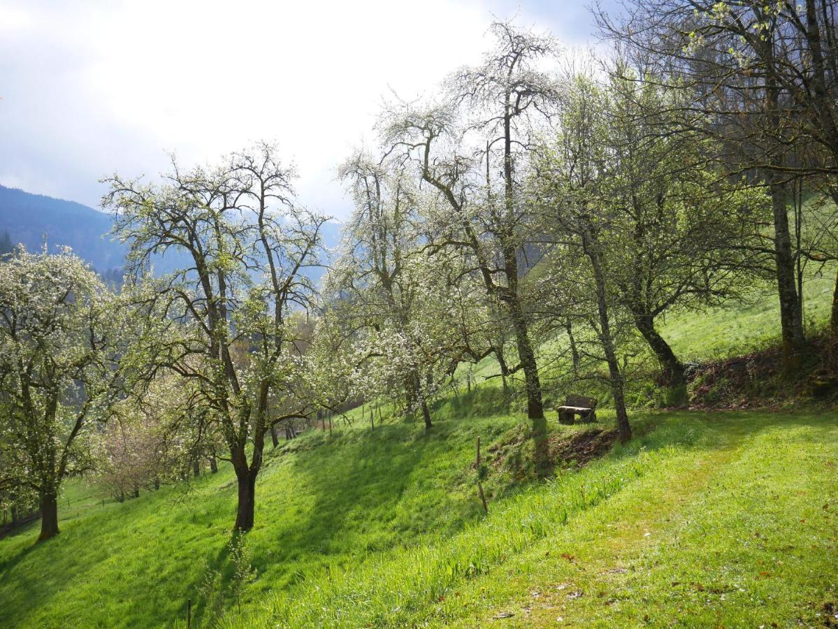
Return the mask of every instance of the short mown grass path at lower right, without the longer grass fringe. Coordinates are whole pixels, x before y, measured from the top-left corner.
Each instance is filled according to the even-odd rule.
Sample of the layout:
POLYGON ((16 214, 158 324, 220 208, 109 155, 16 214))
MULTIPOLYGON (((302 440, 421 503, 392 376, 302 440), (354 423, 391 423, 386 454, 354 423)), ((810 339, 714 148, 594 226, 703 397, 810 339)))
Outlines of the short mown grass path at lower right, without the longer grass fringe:
POLYGON ((838 626, 838 418, 675 415, 661 431, 650 448, 666 432, 695 441, 432 624, 838 626))

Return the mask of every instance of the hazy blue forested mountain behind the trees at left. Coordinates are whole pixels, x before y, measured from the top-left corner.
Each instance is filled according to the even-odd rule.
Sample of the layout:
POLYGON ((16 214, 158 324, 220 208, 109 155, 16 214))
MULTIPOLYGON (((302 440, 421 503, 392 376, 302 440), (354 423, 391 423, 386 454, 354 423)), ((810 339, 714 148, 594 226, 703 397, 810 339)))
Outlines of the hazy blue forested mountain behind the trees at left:
MULTIPOLYGON (((112 240, 110 214, 86 205, 23 192, 0 186, 0 234, 8 231, 13 242, 23 243, 30 251, 44 245, 50 252, 67 245, 96 271, 104 273, 122 267, 127 253, 125 245, 112 240)), ((323 244, 334 248, 340 240, 341 225, 328 222, 323 226, 323 244)), ((155 260, 154 267, 165 273, 184 266, 184 255, 174 252, 155 260)), ((322 269, 309 273, 313 279, 323 276, 322 269)))

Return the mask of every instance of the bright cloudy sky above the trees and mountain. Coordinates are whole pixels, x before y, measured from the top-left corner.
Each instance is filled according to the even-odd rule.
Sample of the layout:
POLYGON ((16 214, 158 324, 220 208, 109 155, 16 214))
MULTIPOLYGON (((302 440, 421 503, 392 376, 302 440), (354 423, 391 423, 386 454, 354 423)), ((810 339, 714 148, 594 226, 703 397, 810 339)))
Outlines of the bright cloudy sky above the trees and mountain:
POLYGON ((0 184, 98 207, 112 173, 156 178, 277 142, 297 196, 344 219, 336 180, 393 93, 475 64, 514 18, 595 42, 572 0, 0 0, 0 184))

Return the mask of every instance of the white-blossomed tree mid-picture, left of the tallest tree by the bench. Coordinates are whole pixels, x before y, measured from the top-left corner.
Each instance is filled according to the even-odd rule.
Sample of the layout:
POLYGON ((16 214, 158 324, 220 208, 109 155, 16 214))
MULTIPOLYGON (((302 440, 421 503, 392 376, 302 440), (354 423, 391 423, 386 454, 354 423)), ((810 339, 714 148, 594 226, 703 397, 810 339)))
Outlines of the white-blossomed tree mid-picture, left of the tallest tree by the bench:
MULTIPOLYGON (((479 359, 471 325, 477 294, 457 281, 457 255, 429 255, 425 205, 434 198, 416 188, 403 164, 359 152, 341 176, 356 209, 328 276, 329 290, 342 297, 329 314, 351 326, 354 389, 362 399, 401 397, 430 429, 429 400, 458 363, 479 359)), ((328 329, 334 324, 322 333, 328 329)))

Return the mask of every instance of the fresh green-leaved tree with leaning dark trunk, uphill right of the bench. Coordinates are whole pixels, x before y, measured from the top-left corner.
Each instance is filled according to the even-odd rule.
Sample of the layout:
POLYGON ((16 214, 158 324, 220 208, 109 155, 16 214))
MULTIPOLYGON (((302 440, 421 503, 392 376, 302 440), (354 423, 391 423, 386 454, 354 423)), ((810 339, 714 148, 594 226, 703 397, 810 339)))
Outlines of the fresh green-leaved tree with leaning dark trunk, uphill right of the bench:
POLYGON ((608 264, 665 383, 680 386, 684 366, 656 321, 753 285, 755 271, 769 264, 754 254, 760 239, 753 229, 768 219, 768 197, 743 178, 724 176, 716 142, 690 130, 694 116, 680 90, 619 67, 603 106, 603 202, 616 210, 608 223, 608 264))

